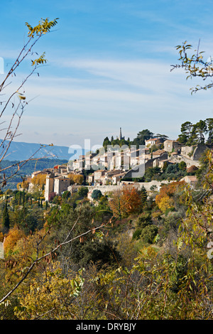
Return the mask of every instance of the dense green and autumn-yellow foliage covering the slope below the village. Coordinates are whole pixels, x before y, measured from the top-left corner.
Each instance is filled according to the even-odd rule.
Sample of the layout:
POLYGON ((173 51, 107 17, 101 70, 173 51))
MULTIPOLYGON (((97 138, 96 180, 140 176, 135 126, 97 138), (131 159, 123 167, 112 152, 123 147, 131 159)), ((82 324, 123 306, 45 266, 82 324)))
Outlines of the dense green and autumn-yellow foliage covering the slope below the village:
POLYGON ((0 318, 212 320, 212 178, 209 151, 202 191, 1 195, 0 318))

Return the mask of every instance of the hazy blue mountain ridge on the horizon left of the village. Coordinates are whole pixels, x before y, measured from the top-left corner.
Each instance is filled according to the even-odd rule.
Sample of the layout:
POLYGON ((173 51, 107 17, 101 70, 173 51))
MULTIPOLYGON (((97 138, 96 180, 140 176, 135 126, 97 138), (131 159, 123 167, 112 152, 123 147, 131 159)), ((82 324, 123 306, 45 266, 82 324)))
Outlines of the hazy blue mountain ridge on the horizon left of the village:
MULTIPOLYGON (((2 139, 0 139, 0 142, 1 141, 2 139)), ((7 143, 8 141, 5 141, 5 144, 7 143)), ((78 152, 76 151, 75 156, 73 153, 69 152, 68 146, 50 146, 45 144, 12 141, 4 159, 9 161, 22 161, 27 160, 35 154, 33 158, 54 158, 69 161, 73 160, 73 158, 78 158, 82 154, 82 150, 78 152)))

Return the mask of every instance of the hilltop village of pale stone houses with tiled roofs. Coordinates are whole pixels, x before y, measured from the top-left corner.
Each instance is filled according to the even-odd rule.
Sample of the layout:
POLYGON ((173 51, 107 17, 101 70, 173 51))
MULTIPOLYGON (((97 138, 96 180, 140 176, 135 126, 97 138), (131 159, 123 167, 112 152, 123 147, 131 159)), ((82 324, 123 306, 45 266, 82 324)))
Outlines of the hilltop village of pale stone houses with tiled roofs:
MULTIPOLYGON (((126 183, 139 188, 145 187, 146 190, 153 187, 159 190, 162 183, 169 181, 144 180, 146 171, 165 171, 168 166, 177 166, 180 163, 185 166, 186 171, 189 168, 196 170, 200 166, 202 153, 208 148, 207 144, 185 146, 177 140, 165 137, 152 136, 145 140, 142 148, 135 145, 103 146, 96 153, 89 152, 66 164, 36 171, 26 177, 28 191, 33 189, 34 178, 38 176, 45 179, 45 201, 50 201, 55 195, 61 196, 65 191, 75 193, 82 185, 88 188, 89 200, 92 200, 94 190, 100 190, 102 195, 105 195, 126 183)), ((121 129, 116 139, 125 141, 121 129)), ((197 178, 195 175, 187 175, 181 178, 181 181, 183 180, 193 187, 197 178)))

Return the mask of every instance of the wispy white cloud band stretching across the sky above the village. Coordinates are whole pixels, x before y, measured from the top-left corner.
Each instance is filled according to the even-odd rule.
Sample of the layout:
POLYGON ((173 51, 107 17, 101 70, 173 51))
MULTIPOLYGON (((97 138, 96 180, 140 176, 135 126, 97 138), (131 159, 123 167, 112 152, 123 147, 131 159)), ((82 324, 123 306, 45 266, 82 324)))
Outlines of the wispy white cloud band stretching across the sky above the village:
POLYGON ((28 137, 37 142, 34 132, 38 131, 39 140, 45 143, 56 140, 57 133, 54 144, 69 146, 72 133, 72 143, 82 144, 89 138, 100 144, 105 136, 116 135, 119 126, 131 139, 141 129, 176 138, 183 122, 212 117, 212 93, 192 97, 192 82, 186 82, 182 72, 170 72, 170 66, 160 61, 76 59, 59 63, 70 76, 75 69, 75 76, 28 81, 26 96, 36 98, 23 115, 19 141, 28 137))

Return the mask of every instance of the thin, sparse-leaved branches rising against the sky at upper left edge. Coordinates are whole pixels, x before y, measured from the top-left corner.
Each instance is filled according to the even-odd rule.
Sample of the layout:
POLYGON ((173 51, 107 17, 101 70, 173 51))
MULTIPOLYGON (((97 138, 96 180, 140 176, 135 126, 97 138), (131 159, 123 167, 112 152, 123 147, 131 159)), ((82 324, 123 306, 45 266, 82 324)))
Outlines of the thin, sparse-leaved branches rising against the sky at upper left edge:
MULTIPOLYGON (((1 118, 1 124, 6 123, 6 120, 4 121, 4 116, 7 113, 7 110, 11 110, 11 118, 9 120, 8 125, 3 129, 1 129, 1 140, 0 143, 0 162, 4 160, 6 153, 9 150, 9 147, 11 145, 11 142, 13 139, 18 136, 18 127, 21 122, 21 118, 23 116, 23 112, 26 109, 26 106, 30 101, 28 101, 24 86, 31 75, 34 73, 37 73, 38 68, 41 65, 45 65, 47 63, 47 59, 45 58, 45 53, 41 54, 36 58, 36 54, 33 48, 36 43, 42 38, 45 34, 50 32, 50 29, 53 28, 58 23, 58 18, 55 18, 53 21, 49 21, 48 18, 41 19, 37 26, 32 27, 29 23, 26 22, 26 26, 28 28, 28 36, 27 41, 25 45, 23 45, 23 48, 21 49, 20 53, 18 54, 18 57, 16 58, 16 61, 13 63, 11 68, 9 69, 9 72, 6 73, 6 76, 4 77, 4 80, 0 84, 0 94, 1 96, 4 95, 4 100, 0 100, 1 102, 1 110, 0 110, 0 118, 1 118), (15 90, 11 91, 9 88, 11 87, 9 82, 9 79, 13 77, 13 75, 16 75, 16 70, 18 67, 21 66, 24 60, 26 60, 28 57, 31 57, 31 71, 26 77, 23 79, 21 77, 21 82, 17 85, 15 90), (33 59, 32 59, 33 58, 33 59)), ((39 75, 39 74, 38 74, 39 75)), ((6 123, 7 124, 7 123, 6 123)), ((41 148, 42 146, 40 146, 41 148)), ((39 149, 38 149, 39 151, 39 149)), ((36 153, 36 152, 35 152, 36 153)), ((13 172, 13 176, 18 173, 20 168, 27 163, 27 161, 31 160, 33 156, 35 155, 33 153, 32 156, 30 156, 26 161, 19 161, 14 163, 13 165, 7 166, 6 168, 1 168, 0 172, 4 173, 9 168, 12 168, 16 166, 16 171, 13 172)), ((4 173, 4 178, 1 179, 0 186, 4 187, 12 176, 6 176, 4 173)))

